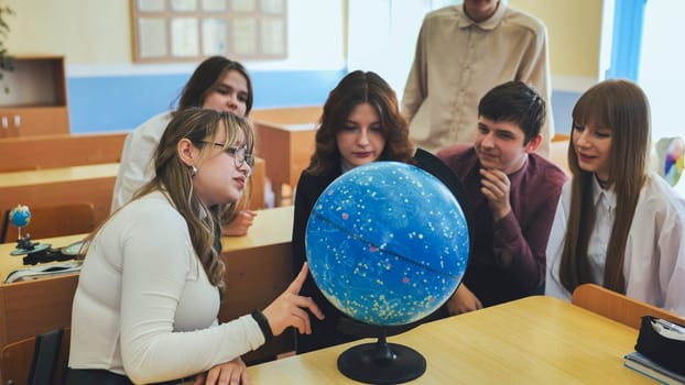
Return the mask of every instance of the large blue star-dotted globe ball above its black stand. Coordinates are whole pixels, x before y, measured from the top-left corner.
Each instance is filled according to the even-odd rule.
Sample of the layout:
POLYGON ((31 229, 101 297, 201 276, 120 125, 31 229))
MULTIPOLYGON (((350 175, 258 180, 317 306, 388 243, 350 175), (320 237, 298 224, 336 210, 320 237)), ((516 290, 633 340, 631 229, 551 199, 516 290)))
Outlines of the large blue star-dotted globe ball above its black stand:
POLYGON ((400 326, 437 310, 466 271, 469 235, 454 195, 396 162, 356 167, 330 184, 307 222, 315 283, 347 316, 400 326))

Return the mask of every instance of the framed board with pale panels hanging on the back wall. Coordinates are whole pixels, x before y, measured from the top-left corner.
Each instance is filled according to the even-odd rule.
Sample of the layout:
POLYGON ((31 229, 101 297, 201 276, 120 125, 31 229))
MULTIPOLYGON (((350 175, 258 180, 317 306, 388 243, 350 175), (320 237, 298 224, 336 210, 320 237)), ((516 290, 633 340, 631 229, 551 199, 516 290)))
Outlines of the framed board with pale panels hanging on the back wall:
POLYGON ((287 56, 287 0, 131 0, 134 61, 287 56))

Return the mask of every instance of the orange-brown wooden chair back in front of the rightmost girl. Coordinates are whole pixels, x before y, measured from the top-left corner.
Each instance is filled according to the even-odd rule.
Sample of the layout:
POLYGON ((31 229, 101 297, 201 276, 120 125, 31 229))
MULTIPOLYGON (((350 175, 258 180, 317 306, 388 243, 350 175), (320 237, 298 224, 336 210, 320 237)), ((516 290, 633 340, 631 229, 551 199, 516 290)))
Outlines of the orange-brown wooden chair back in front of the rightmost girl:
POLYGON ((685 324, 685 318, 676 314, 595 284, 584 284, 576 287, 570 301, 633 329, 640 329, 641 318, 648 315, 685 324))

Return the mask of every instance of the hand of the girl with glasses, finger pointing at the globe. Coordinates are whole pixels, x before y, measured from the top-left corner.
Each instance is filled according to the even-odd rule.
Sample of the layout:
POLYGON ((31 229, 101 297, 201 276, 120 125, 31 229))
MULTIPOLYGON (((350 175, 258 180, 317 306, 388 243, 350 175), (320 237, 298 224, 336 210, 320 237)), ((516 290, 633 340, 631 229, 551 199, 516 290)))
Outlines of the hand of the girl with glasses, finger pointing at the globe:
POLYGON ((264 317, 269 321, 273 336, 279 336, 287 327, 295 327, 300 333, 311 334, 312 323, 309 322, 309 316, 307 309, 312 311, 318 319, 324 319, 324 314, 314 304, 311 297, 303 297, 300 295, 302 284, 307 278, 308 273, 307 264, 305 263, 293 280, 292 284, 273 300, 263 311, 264 317))

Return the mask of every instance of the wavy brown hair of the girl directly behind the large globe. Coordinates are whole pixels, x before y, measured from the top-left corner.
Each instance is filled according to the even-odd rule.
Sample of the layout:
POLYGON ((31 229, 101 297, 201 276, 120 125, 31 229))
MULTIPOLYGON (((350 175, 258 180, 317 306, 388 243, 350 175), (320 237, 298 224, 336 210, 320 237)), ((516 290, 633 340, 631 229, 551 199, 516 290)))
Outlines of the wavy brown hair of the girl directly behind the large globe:
POLYGON ((395 92, 376 73, 355 70, 345 76, 326 99, 316 131, 316 151, 307 167, 309 174, 322 175, 339 166, 336 134, 345 128, 352 109, 361 103, 371 105, 381 123, 385 147, 379 161, 411 162, 413 146, 409 140, 409 123, 400 114, 395 92))

